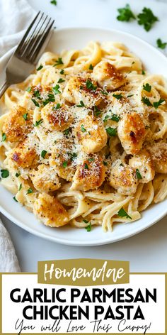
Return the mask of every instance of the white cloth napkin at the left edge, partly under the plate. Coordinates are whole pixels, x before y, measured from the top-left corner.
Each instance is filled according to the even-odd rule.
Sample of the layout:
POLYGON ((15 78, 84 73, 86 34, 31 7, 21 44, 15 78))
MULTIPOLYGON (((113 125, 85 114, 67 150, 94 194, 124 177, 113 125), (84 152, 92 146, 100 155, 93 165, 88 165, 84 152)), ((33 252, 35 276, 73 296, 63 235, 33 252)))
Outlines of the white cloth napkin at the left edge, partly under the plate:
MULTIPOLYGON (((0 57, 17 45, 35 16, 25 0, 0 0, 0 57)), ((19 272, 15 249, 0 219, 0 272, 19 272)))

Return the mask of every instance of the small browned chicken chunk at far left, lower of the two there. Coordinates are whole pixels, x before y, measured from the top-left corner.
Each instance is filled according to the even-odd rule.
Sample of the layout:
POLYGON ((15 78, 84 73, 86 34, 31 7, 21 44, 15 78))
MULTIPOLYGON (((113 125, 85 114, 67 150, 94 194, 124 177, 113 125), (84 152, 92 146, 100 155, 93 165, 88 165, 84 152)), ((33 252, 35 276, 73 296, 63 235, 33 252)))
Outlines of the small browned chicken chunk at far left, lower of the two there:
POLYGON ((25 139, 11 151, 11 160, 17 167, 29 167, 38 158, 35 148, 30 148, 29 145, 29 141, 25 139))

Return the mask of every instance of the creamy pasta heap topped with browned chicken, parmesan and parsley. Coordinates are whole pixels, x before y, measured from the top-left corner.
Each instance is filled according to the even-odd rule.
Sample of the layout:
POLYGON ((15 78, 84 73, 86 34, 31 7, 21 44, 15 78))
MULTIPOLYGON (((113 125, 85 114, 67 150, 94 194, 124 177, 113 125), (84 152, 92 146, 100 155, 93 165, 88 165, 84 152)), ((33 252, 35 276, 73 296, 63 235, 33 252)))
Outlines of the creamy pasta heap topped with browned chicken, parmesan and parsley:
POLYGON ((135 221, 167 195, 166 102, 120 43, 44 53, 1 99, 1 184, 47 226, 135 221))

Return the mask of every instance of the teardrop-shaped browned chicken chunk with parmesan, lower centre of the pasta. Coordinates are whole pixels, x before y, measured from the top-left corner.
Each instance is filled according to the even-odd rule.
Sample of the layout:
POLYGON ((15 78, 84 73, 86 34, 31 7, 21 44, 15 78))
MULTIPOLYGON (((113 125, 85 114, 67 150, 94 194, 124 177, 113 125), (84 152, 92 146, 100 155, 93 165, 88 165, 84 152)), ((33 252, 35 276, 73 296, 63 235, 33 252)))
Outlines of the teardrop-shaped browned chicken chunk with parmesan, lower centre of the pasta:
POLYGON ((79 165, 73 177, 71 190, 88 191, 102 185, 105 180, 105 166, 100 155, 90 155, 79 165))

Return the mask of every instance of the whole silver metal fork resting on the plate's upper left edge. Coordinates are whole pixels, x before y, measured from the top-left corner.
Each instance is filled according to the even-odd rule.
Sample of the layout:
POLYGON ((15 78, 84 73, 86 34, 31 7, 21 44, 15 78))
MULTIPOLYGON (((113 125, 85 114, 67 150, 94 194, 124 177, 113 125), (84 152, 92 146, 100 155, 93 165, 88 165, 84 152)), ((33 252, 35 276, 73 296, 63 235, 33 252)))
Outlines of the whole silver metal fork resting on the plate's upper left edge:
POLYGON ((33 19, 16 51, 6 65, 6 81, 0 88, 0 98, 11 84, 23 82, 35 69, 52 34, 54 20, 42 12, 33 19))

